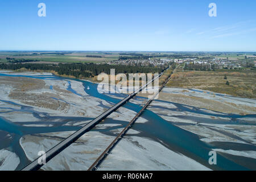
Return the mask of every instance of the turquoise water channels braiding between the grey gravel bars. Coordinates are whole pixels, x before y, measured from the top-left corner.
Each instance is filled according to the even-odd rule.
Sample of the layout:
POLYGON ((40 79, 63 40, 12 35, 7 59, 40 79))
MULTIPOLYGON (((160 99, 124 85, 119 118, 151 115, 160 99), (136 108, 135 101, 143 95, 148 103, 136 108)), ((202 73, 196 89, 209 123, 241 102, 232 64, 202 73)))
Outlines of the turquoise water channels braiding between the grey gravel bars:
MULTIPOLYGON (((0 73, 0 76, 10 76, 3 73, 0 73)), ((57 77, 57 76, 24 76, 24 77, 30 77, 30 78, 39 78, 39 79, 55 79, 55 80, 67 80, 67 78, 63 77, 57 77)), ((76 80, 68 78, 69 80, 76 80)), ((68 80, 67 80, 68 81, 68 80)), ((113 98, 106 94, 100 94, 97 90, 97 84, 94 84, 92 82, 88 81, 81 81, 85 88, 85 92, 88 93, 90 96, 101 98, 102 100, 108 101, 112 104, 116 104, 119 101, 121 101, 118 98, 113 98), (89 86, 89 90, 86 89, 89 86)), ((70 81, 68 81, 69 86, 68 90, 79 95, 75 90, 71 88, 70 81)), ((52 88, 51 88, 52 89, 52 88)), ((122 96, 125 97, 125 95, 121 94, 113 94, 114 96, 122 96)), ((56 99, 56 98, 53 98, 56 99)), ((143 99, 143 98, 141 98, 143 99)), ((159 101, 159 100, 157 100, 159 101)), ((3 102, 3 101, 2 101, 3 102)), ((5 101, 8 102, 8 101, 5 101)), ((223 114, 223 113, 211 113, 207 112, 206 110, 200 110, 200 108, 193 107, 192 109, 189 109, 189 107, 186 107, 182 104, 176 104, 173 102, 167 102, 167 101, 160 101, 160 102, 166 102, 169 104, 174 104, 177 109, 169 109, 170 111, 189 111, 191 113, 196 114, 204 114, 204 115, 210 115, 214 117, 223 117, 223 118, 230 118, 230 121, 233 121, 234 125, 255 125, 251 123, 246 123, 246 121, 243 121, 243 117, 249 117, 249 118, 256 118, 255 114, 252 115, 237 115, 237 114, 223 114)), ((15 103, 13 103, 15 104, 15 103)), ((53 127, 28 127, 28 126, 22 126, 20 123, 13 123, 11 121, 7 121, 5 118, 0 118, 0 130, 7 131, 8 133, 12 134, 14 136, 13 141, 11 142, 11 150, 13 150, 20 158, 21 162, 17 169, 20 169, 24 167, 29 161, 26 159, 26 155, 24 155, 24 152, 22 151, 22 148, 19 147, 19 139, 23 135, 27 134, 42 134, 42 133, 50 133, 50 132, 57 132, 57 131, 75 131, 79 130, 81 126, 63 126, 65 123, 73 121, 73 122, 80 122, 80 121, 88 121, 93 118, 85 118, 85 117, 51 117, 48 115, 48 113, 39 113, 33 110, 32 107, 28 106, 21 106, 20 111, 26 111, 30 112, 34 115, 34 117, 39 118, 39 121, 34 122, 35 124, 44 124, 44 123, 52 123, 53 127), (43 116, 42 116, 43 115, 43 116), (59 119, 58 122, 55 122, 55 119, 59 119)), ((104 106, 104 105, 102 105, 104 106)), ((127 109, 133 110, 138 112, 141 110, 141 106, 137 104, 133 104, 131 102, 128 102, 123 107, 126 107, 127 109)), ((190 106, 191 107, 191 106, 190 106)), ((0 108, 1 109, 1 108, 0 108)), ((167 109, 168 108, 164 108, 167 109)), ((234 156, 225 155, 218 155, 217 156, 217 165, 210 166, 208 163, 209 159, 209 151, 212 150, 214 145, 210 146, 207 143, 204 143, 200 140, 200 137, 196 134, 193 134, 187 130, 183 130, 180 127, 177 127, 173 125, 173 123, 168 122, 164 120, 162 117, 160 117, 158 114, 155 114, 154 112, 150 110, 144 111, 142 114, 143 118, 147 119, 149 122, 146 123, 135 123, 133 126, 134 130, 141 131, 140 134, 137 134, 141 137, 147 137, 152 140, 156 140, 158 142, 162 142, 164 146, 167 148, 170 148, 170 150, 179 152, 183 155, 189 156, 189 158, 195 159, 197 162, 200 162, 201 164, 204 164, 204 166, 207 166, 211 169, 224 169, 224 170, 247 170, 247 169, 256 169, 256 160, 251 159, 254 166, 249 165, 249 167, 245 165, 241 166, 241 164, 236 163, 236 159, 234 159, 234 156)), ((188 116, 189 117, 189 116, 188 116)), ((185 119, 196 119, 197 121, 200 121, 200 117, 198 118, 185 118, 185 119)), ((205 118, 204 118, 205 120, 205 118)), ((105 119, 106 123, 121 123, 122 126, 117 127, 111 127, 110 129, 104 129, 104 130, 98 130, 102 133, 109 134, 109 130, 118 129, 120 127, 124 127, 127 122, 122 121, 114 121, 113 119, 105 119)), ((208 121, 201 121, 201 122, 208 122, 208 123, 219 123, 219 124, 226 124, 225 121, 221 121, 218 119, 209 119, 208 121)), ((29 122, 31 123, 31 122, 29 122)), ((22 123, 25 124, 24 122, 22 123)), ((96 130, 96 129, 94 129, 96 130)), ((225 146, 225 145, 224 145, 225 146)), ((220 146, 218 146, 219 148, 220 146)), ((1 149, 1 144, 0 144, 1 149)), ((254 145, 251 145, 250 150, 256 151, 256 147, 254 145)))

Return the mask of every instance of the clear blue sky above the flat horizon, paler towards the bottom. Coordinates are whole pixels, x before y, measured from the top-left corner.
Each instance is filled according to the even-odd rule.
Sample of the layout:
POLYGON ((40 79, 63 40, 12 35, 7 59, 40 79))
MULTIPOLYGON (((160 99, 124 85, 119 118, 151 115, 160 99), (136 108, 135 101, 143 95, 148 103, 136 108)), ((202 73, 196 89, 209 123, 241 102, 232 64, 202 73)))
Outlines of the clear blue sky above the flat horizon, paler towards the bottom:
POLYGON ((255 9, 251 0, 2 0, 0 50, 256 51, 255 9))

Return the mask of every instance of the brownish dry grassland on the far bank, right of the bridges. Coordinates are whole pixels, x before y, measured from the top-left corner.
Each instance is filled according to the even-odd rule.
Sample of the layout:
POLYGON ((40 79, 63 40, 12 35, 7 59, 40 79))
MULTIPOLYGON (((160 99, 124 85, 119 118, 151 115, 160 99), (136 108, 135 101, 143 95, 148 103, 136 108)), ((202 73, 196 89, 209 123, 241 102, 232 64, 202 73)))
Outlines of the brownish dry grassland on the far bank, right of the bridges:
POLYGON ((167 86, 196 88, 233 96, 256 98, 255 72, 177 72, 167 86), (224 77, 227 77, 225 80, 224 77), (226 85, 229 81, 230 85, 226 85))

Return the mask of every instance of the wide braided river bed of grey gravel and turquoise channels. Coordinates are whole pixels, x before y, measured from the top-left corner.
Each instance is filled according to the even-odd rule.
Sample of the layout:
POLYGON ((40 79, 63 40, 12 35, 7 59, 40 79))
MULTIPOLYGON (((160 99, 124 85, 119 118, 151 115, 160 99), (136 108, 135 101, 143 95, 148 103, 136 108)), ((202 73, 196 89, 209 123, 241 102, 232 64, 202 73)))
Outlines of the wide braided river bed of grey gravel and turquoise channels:
MULTIPOLYGON (((51 73, 1 71, 0 79, 0 170, 23 168, 126 96, 51 73)), ((146 101, 136 96, 42 169, 88 169, 146 101)), ((99 169, 255 170, 255 106, 253 99, 164 88, 99 169), (227 111, 216 109, 225 102, 227 111), (212 150, 217 165, 208 163, 212 150)))

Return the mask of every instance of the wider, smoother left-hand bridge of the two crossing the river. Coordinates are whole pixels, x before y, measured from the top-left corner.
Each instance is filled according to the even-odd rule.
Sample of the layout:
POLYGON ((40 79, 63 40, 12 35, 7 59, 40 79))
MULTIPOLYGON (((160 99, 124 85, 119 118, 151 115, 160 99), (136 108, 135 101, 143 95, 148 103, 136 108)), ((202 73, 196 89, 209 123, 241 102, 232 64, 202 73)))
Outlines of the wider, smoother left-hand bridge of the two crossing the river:
MULTIPOLYGON (((147 82, 147 84, 145 84, 144 86, 142 86, 141 88, 135 90, 135 92, 133 92, 132 94, 130 94, 129 96, 125 97, 122 101, 118 102, 117 104, 115 104, 113 107, 111 107, 110 109, 106 110, 104 113, 102 113, 101 115, 99 115, 97 118, 93 119, 93 121, 89 122, 87 125, 85 125, 84 127, 82 127, 80 130, 76 131, 75 133, 73 133, 72 135, 70 135, 68 138, 64 139, 62 142, 60 142, 59 144, 57 144, 55 147, 52 147, 50 150, 48 150, 46 152, 46 163, 49 162, 49 160, 51 160, 52 158, 54 158, 57 154, 59 154, 61 151, 63 151, 65 148, 67 148, 68 146, 70 146, 72 143, 74 143, 77 139, 79 139, 82 135, 84 135, 85 133, 87 133, 88 131, 92 130, 93 127, 95 127, 96 125, 98 125, 98 123, 100 123, 103 119, 105 119, 106 117, 108 117, 111 113, 113 113, 115 110, 117 110, 119 107, 121 107, 122 105, 126 104, 129 100, 131 100, 131 98, 133 98, 136 94, 138 94, 139 92, 141 92, 143 89, 145 89, 147 87, 148 84, 151 84, 151 82, 155 81, 157 78, 159 78, 160 76, 162 76, 163 73, 160 73, 160 75, 158 77, 154 77, 154 79, 152 79, 151 81, 147 82)), ((163 88, 163 86, 162 86, 163 88)), ((161 89, 162 89, 161 88, 161 89)), ((144 108, 144 107, 143 107, 144 108)), ((146 107, 145 107, 146 108, 146 107)), ((144 109, 145 109, 144 108, 144 109)), ((143 110, 144 110, 143 109, 143 110)), ((138 115, 138 114, 137 114, 138 115)), ((134 119, 133 119, 134 120, 134 119)), ((129 126, 130 123, 129 123, 129 126)), ((127 126, 127 127, 129 127, 127 126)), ((129 127, 130 128, 130 127, 129 127)), ((40 157, 39 157, 40 158, 40 157)), ((22 171, 36 171, 38 169, 40 169, 42 166, 44 166, 44 164, 39 164, 38 163, 38 159, 35 159, 32 163, 28 164, 28 166, 24 167, 22 169, 22 171)), ((96 165, 97 166, 97 165, 96 165)), ((94 167, 94 166, 93 166, 94 167)))

